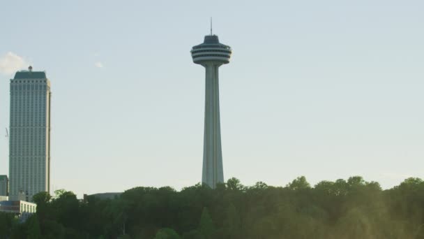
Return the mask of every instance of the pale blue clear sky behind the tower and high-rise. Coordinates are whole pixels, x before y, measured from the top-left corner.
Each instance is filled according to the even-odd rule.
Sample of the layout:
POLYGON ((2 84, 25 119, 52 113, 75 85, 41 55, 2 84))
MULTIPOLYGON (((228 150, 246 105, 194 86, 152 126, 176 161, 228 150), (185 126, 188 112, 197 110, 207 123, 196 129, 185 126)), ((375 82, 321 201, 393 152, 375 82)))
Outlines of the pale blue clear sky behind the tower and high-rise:
MULTIPOLYGON (((424 1, 5 1, 0 126, 11 71, 52 82, 52 189, 93 194, 202 177, 213 33, 225 179, 284 186, 424 178, 424 1)), ((4 133, 2 133, 3 135, 4 133)), ((0 141, 0 174, 8 142, 0 141)))

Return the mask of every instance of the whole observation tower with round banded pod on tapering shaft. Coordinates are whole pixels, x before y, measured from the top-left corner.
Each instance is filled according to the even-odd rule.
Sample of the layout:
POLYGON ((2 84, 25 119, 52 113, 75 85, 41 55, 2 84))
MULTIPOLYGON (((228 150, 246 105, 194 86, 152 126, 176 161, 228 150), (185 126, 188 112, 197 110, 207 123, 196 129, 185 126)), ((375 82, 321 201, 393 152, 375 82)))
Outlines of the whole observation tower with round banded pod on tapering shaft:
POLYGON ((218 36, 212 34, 212 29, 211 35, 205 36, 204 42, 191 50, 193 62, 206 69, 202 184, 208 184, 213 189, 218 182, 224 182, 218 68, 229 63, 231 54, 232 49, 220 43, 218 36))

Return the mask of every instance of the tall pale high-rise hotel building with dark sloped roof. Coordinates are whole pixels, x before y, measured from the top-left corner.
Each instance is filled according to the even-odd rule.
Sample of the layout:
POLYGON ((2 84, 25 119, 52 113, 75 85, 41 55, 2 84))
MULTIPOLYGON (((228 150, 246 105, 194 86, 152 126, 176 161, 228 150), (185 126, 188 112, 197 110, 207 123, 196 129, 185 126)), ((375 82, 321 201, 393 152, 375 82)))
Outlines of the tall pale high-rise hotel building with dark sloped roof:
POLYGON ((9 200, 50 192, 50 80, 18 71, 10 80, 9 200))

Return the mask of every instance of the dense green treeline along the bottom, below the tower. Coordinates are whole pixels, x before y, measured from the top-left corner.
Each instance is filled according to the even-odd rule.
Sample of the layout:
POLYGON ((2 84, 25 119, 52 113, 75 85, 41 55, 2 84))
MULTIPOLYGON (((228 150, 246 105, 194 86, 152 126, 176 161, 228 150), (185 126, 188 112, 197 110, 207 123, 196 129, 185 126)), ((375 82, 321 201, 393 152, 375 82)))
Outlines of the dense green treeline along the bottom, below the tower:
POLYGON ((217 189, 135 187, 86 202, 59 190, 34 201, 37 213, 24 224, 0 214, 0 238, 424 239, 419 178, 388 190, 361 177, 315 187, 304 177, 286 187, 245 187, 232 178, 217 189))

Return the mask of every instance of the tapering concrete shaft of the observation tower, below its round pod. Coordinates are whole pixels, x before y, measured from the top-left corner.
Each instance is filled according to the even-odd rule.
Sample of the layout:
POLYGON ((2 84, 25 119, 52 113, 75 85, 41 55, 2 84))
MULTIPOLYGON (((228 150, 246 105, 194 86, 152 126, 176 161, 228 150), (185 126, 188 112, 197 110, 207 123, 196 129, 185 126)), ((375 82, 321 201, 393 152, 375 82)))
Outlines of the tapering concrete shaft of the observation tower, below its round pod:
POLYGON ((202 183, 215 188, 224 182, 222 169, 220 97, 218 68, 220 64, 204 64, 206 68, 206 92, 204 104, 204 143, 202 183))

